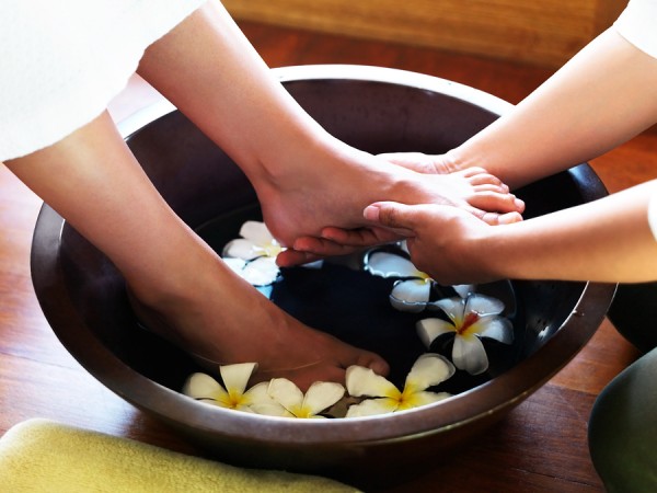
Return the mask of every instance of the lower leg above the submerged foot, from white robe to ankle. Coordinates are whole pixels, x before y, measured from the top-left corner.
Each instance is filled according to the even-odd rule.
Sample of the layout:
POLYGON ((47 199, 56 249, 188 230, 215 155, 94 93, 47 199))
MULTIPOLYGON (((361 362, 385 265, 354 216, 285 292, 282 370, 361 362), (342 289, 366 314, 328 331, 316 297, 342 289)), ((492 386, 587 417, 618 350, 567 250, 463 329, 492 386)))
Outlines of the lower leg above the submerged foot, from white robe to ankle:
POLYGON ((159 195, 106 112, 61 141, 5 164, 135 285, 157 278, 164 289, 176 274, 191 275, 164 273, 162 265, 184 262, 188 255, 180 252, 200 241, 159 195))

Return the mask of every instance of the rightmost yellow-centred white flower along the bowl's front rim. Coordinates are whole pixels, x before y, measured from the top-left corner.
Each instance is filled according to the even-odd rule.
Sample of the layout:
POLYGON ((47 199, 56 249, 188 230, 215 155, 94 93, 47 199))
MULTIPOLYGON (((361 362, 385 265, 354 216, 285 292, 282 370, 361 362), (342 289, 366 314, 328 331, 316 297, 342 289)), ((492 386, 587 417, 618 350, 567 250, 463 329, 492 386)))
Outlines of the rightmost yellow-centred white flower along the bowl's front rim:
POLYGON ((400 391, 370 368, 350 366, 346 376, 349 394, 373 399, 351 405, 346 417, 389 414, 447 399, 450 397, 447 392, 437 393, 426 389, 447 380, 454 371, 454 366, 447 358, 438 354, 423 354, 407 375, 404 390, 400 391))

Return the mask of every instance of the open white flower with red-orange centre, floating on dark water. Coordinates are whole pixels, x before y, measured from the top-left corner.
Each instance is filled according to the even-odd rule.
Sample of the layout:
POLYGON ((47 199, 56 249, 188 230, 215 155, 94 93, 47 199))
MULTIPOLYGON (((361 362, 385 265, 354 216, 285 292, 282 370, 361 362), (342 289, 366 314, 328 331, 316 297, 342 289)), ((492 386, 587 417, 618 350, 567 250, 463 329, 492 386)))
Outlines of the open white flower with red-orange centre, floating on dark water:
POLYGON ((451 323, 442 319, 425 319, 417 322, 417 333, 427 347, 440 335, 453 333, 452 362, 456 367, 471 375, 488 369, 488 356, 481 341, 494 339, 504 344, 514 341, 514 326, 499 313, 504 303, 484 295, 468 295, 466 298, 446 298, 431 303, 441 309, 451 323))

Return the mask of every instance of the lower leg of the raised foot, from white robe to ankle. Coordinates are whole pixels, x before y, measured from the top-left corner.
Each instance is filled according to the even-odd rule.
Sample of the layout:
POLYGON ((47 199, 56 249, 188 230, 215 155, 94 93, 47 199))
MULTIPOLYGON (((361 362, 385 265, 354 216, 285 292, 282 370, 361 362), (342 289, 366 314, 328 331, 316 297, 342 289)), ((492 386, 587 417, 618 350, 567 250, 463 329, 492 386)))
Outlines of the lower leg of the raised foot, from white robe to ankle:
POLYGON ((321 146, 330 137, 273 78, 219 2, 208 2, 149 47, 139 73, 252 181, 263 164, 284 160, 292 144, 321 146))

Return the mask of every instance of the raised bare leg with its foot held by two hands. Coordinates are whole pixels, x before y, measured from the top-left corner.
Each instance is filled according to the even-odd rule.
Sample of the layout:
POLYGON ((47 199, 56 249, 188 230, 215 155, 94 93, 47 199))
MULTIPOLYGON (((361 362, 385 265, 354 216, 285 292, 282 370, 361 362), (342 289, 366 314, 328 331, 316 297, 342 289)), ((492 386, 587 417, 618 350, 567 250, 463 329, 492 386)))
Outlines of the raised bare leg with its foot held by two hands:
POLYGON ((519 211, 487 173, 422 175, 330 136, 273 80, 219 2, 149 47, 139 73, 240 164, 286 244, 324 226, 367 226, 361 211, 379 199, 438 202, 479 216, 519 211))

